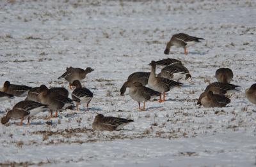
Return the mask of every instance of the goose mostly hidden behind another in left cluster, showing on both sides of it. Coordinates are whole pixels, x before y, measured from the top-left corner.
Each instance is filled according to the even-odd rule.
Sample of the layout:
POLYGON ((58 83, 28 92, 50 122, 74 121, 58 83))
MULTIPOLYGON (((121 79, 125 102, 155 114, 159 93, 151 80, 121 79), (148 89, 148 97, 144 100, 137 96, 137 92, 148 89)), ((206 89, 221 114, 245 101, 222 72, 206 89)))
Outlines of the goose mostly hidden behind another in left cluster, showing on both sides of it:
MULTIPOLYGON (((38 99, 38 94, 40 94, 41 91, 42 90, 40 87, 33 87, 28 91, 28 95, 25 100, 40 102, 40 100, 38 99)), ((60 94, 61 96, 68 97, 68 90, 64 87, 52 87, 51 89, 49 89, 49 91, 58 92, 58 94, 60 94)))

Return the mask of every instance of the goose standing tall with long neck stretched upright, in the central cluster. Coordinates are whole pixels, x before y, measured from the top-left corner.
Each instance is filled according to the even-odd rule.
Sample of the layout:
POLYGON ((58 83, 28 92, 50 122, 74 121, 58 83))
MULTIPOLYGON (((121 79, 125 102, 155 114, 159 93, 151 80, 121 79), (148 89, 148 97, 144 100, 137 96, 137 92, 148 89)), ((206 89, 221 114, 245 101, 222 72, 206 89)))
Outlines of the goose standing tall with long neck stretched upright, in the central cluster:
POLYGON ((159 102, 165 101, 165 92, 170 91, 173 87, 181 86, 183 83, 175 82, 174 80, 168 80, 167 78, 156 77, 156 62, 152 61, 151 73, 148 78, 148 86, 154 91, 160 92, 159 102), (161 99, 163 94, 163 100, 161 99))

